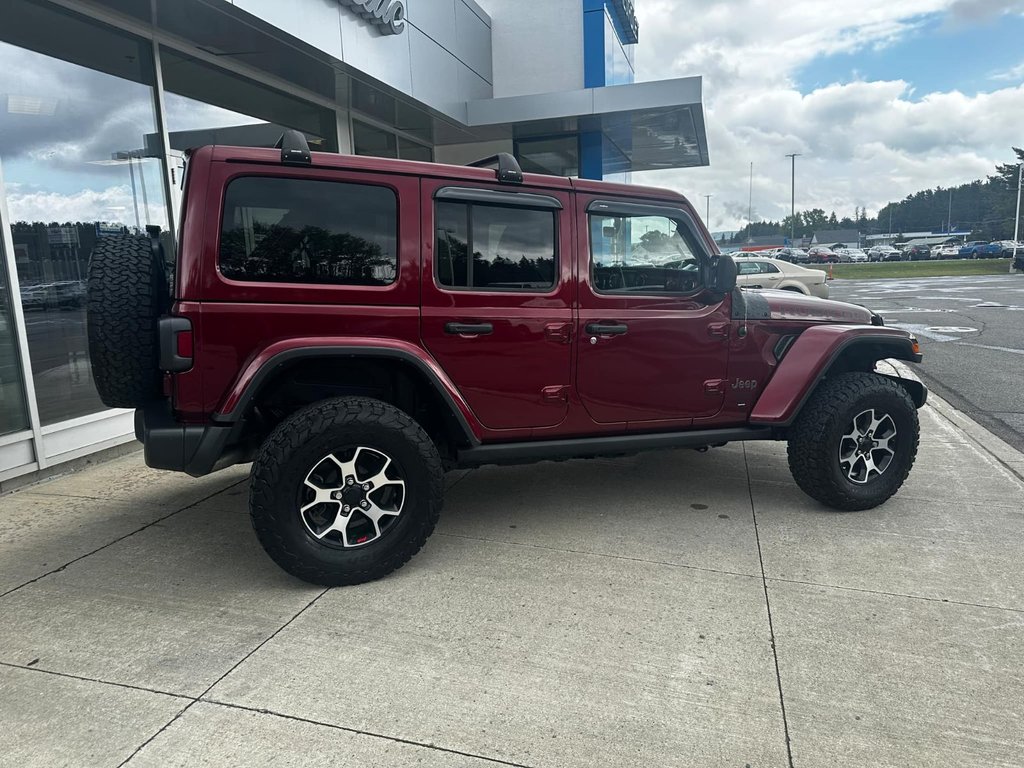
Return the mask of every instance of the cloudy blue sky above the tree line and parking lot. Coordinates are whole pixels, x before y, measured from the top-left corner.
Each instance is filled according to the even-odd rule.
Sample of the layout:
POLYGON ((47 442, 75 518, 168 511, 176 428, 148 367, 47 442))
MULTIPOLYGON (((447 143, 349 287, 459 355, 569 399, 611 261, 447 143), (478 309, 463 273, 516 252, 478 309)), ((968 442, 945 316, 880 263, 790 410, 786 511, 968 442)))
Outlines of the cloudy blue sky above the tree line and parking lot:
MULTIPOLYGON (((637 0, 637 79, 703 77, 711 166, 636 174, 711 228, 797 209, 852 216, 1014 162, 1024 0, 637 0)), ((955 205, 955 202, 954 202, 955 205)))

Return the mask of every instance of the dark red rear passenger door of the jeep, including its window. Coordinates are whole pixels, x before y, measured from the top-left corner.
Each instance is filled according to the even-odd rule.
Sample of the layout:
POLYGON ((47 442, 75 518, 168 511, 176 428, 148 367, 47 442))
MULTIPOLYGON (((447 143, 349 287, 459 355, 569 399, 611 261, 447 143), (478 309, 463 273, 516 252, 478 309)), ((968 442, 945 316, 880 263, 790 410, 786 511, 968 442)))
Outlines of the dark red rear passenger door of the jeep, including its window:
POLYGON ((489 429, 551 427, 567 414, 570 199, 567 188, 423 183, 420 332, 489 429))

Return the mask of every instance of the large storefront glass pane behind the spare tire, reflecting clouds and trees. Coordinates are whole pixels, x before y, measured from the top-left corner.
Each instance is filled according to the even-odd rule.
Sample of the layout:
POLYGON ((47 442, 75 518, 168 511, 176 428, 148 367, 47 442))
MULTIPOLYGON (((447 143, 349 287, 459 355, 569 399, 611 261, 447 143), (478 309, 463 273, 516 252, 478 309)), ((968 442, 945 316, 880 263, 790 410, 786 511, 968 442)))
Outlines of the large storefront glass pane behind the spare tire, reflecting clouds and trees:
POLYGON ((47 425, 105 408, 92 383, 85 325, 96 239, 167 228, 163 164, 146 146, 157 130, 151 46, 22 0, 0 0, 0 16, 4 225, 47 425))

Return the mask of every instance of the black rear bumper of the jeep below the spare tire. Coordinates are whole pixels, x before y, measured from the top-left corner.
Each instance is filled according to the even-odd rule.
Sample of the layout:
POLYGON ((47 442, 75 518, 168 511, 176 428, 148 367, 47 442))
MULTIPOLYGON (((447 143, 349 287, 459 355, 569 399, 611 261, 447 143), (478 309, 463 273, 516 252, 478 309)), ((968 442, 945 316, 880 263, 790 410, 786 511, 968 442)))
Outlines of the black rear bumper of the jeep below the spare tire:
POLYGON ((230 425, 207 426, 176 421, 169 400, 158 400, 135 410, 135 439, 144 447, 146 466, 154 469, 200 477, 237 464, 241 452, 229 450, 230 433, 230 425))

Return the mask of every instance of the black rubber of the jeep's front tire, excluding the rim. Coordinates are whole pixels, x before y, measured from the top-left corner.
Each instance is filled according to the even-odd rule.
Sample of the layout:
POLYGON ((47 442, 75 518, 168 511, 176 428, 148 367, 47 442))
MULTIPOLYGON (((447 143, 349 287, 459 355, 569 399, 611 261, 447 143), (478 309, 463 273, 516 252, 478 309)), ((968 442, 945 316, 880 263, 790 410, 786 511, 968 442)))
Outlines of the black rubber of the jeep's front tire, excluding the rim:
POLYGON ((898 382, 879 374, 841 374, 818 386, 790 430, 790 471, 804 493, 822 504, 841 511, 871 509, 906 480, 919 439, 918 411, 898 382), (839 445, 854 417, 867 409, 892 418, 897 440, 887 469, 858 484, 841 467, 839 445))

